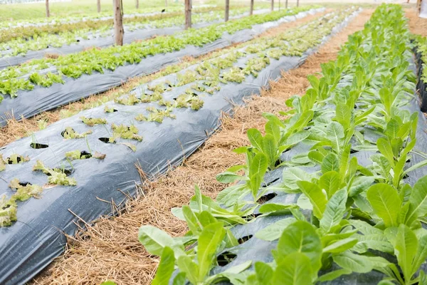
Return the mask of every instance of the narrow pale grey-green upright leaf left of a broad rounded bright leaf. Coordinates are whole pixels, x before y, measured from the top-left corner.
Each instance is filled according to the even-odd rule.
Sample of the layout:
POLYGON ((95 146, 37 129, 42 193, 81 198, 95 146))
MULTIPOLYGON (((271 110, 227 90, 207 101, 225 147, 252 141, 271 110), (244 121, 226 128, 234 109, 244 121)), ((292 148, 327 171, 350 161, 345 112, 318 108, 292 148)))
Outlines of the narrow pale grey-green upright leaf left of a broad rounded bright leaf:
POLYGON ((341 222, 347 203, 347 190, 342 189, 335 193, 327 201, 325 212, 320 219, 320 229, 328 233, 330 230, 341 222))

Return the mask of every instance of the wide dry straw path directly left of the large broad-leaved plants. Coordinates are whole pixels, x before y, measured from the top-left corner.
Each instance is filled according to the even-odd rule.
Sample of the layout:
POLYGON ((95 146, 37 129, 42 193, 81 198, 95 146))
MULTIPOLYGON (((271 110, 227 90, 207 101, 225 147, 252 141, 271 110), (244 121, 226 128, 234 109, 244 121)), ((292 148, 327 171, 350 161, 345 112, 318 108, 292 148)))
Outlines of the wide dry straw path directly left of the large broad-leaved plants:
POLYGON ((300 68, 283 73, 283 78, 272 82, 270 90, 263 91, 244 106, 234 109, 233 118, 225 115, 222 128, 191 155, 180 167, 169 171, 153 182, 146 182, 144 195, 128 202, 125 212, 112 219, 100 219, 78 237, 70 238, 68 250, 56 259, 34 284, 100 284, 107 279, 118 284, 149 284, 159 259, 148 254, 137 239, 142 224, 159 227, 173 236, 186 232, 186 226, 174 218, 172 207, 187 204, 199 185, 204 195, 216 197, 224 185, 215 175, 227 167, 244 162, 242 155, 231 152, 248 145, 246 130, 263 129, 262 113, 284 110, 285 99, 305 92, 307 75, 321 71, 320 63, 334 60, 347 36, 363 28, 372 10, 362 11, 347 28, 331 38, 300 68))

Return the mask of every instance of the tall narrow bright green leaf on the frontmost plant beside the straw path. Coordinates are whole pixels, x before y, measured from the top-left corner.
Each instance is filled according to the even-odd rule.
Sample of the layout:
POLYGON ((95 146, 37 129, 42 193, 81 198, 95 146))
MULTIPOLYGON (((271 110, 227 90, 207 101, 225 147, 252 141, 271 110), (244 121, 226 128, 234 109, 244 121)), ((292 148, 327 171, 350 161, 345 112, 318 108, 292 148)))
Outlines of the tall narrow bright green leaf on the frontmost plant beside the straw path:
POLYGON ((204 279, 211 267, 214 265, 216 249, 223 241, 226 231, 223 223, 217 222, 204 227, 198 239, 197 261, 199 262, 199 281, 204 279))

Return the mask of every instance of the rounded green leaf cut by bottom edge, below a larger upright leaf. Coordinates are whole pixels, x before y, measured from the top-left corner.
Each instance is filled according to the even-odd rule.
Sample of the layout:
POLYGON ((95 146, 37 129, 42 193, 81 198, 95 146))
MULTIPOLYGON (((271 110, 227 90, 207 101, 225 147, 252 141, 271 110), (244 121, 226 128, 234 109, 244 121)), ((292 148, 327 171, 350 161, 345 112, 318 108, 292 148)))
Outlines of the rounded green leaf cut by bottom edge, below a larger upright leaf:
POLYGON ((311 285, 313 269, 310 259, 300 252, 293 252, 278 263, 273 274, 275 285, 311 285))

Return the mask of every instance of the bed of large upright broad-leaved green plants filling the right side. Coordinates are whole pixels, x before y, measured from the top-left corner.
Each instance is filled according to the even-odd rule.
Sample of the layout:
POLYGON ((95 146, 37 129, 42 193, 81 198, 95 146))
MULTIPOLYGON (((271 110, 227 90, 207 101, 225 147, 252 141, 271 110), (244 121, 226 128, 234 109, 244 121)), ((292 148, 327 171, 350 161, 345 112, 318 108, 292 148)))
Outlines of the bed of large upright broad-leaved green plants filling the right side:
POLYGON ((184 237, 139 229, 139 241, 161 257, 152 284, 342 284, 354 274, 370 282, 380 274, 383 285, 427 284, 427 177, 405 182, 427 165, 408 167, 422 155, 414 148, 418 112, 406 108, 416 83, 411 47, 401 6, 379 6, 337 61, 322 65, 322 77, 309 76, 305 95, 287 100, 285 117, 265 113, 265 135, 248 130, 251 145, 235 150, 246 164, 217 175, 238 184, 216 201, 196 187, 188 206, 172 209, 189 227, 184 237), (264 175, 278 170, 281 182, 266 185, 264 175), (284 193, 296 202, 267 199, 284 193), (273 216, 283 219, 254 237, 233 234, 273 216), (269 260, 231 259, 221 271, 221 253, 255 238, 275 244, 269 260))

